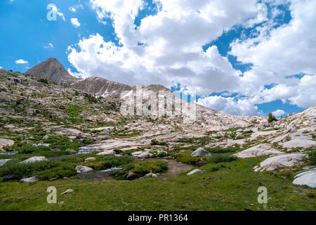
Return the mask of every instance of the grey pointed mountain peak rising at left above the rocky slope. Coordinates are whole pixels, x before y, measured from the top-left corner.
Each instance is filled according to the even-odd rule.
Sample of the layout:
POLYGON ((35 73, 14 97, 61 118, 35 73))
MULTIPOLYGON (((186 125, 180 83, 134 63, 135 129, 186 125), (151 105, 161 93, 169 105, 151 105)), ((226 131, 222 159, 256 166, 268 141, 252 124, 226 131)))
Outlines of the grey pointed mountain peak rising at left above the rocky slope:
POLYGON ((35 65, 34 68, 26 73, 47 79, 49 82, 56 84, 72 84, 78 80, 70 75, 57 58, 48 58, 48 60, 35 65))

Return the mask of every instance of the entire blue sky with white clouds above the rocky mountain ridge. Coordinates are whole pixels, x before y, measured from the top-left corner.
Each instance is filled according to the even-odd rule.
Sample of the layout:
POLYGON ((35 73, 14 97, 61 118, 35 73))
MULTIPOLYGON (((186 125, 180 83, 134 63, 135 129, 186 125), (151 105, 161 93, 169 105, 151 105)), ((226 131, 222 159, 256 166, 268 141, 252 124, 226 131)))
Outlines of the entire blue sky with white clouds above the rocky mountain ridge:
MULTIPOLYGON (((301 34, 291 27, 303 20, 302 8, 313 2, 238 1, 235 6, 216 0, 199 6, 181 0, 3 0, 0 66, 26 72, 54 57, 78 77, 98 75, 131 85, 196 91, 202 105, 237 115, 278 110, 278 116, 285 116, 315 105, 315 95, 310 94, 315 66, 294 57, 305 53, 304 48, 314 53, 312 57, 315 51, 308 44, 289 49, 282 40, 289 32, 296 43, 301 34), (55 21, 46 18, 48 4, 58 8, 55 21), (225 16, 216 14, 223 11, 225 16), (275 43, 275 49, 269 49, 275 43), (25 63, 17 63, 21 59, 25 63), (294 63, 299 66, 291 68, 294 63)), ((305 20, 314 20, 308 15, 305 20)), ((305 57, 312 61, 310 55, 305 57)))

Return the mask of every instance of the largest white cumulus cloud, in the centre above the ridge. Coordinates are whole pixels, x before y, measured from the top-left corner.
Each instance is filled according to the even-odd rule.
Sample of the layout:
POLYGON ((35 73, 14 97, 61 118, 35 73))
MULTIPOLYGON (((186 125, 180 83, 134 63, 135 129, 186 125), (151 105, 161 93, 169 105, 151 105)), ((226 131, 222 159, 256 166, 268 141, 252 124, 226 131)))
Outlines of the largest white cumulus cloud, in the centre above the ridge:
POLYGON ((257 18, 261 9, 255 0, 157 1, 157 15, 135 27, 143 1, 91 0, 99 20, 112 18, 121 46, 106 42, 100 34, 70 46, 69 60, 79 72, 104 75, 127 84, 180 83, 197 94, 237 91, 240 72, 216 46, 202 46, 235 24, 257 18))

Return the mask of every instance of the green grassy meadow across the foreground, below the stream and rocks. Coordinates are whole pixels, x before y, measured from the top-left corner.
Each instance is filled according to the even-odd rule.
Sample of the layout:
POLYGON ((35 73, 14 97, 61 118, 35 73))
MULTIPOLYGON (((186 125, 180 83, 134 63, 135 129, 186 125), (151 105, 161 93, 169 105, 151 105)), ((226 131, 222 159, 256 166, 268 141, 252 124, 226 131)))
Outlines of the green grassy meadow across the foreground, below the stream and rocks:
POLYGON ((0 184, 0 210, 315 210, 316 191, 294 186, 291 179, 256 173, 265 158, 223 162, 215 172, 172 179, 91 181, 70 179, 0 184), (206 180, 212 177, 217 180, 206 180), (49 186, 58 191, 58 204, 46 201, 49 186), (268 204, 258 204, 258 187, 268 189, 268 204), (60 195, 67 189, 74 193, 60 195), (64 202, 64 204, 59 204, 64 202))

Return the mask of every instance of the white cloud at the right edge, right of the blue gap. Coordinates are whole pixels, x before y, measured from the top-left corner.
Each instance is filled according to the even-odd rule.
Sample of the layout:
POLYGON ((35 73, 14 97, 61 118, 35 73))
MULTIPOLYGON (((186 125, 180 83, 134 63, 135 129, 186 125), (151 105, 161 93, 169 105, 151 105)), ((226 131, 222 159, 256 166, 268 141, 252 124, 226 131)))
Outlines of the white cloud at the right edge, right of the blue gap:
POLYGON ((310 84, 316 82, 316 30, 312 29, 315 8, 316 1, 292 0, 289 25, 273 28, 274 23, 266 23, 258 28, 258 37, 237 39, 231 44, 232 55, 242 63, 254 64, 242 77, 243 94, 260 96, 263 102, 289 100, 304 108, 316 104, 315 95, 308 91, 312 88, 305 89, 309 86, 305 79, 310 84), (298 74, 307 75, 302 79, 288 78, 298 74), (263 89, 272 83, 277 86, 263 89))

